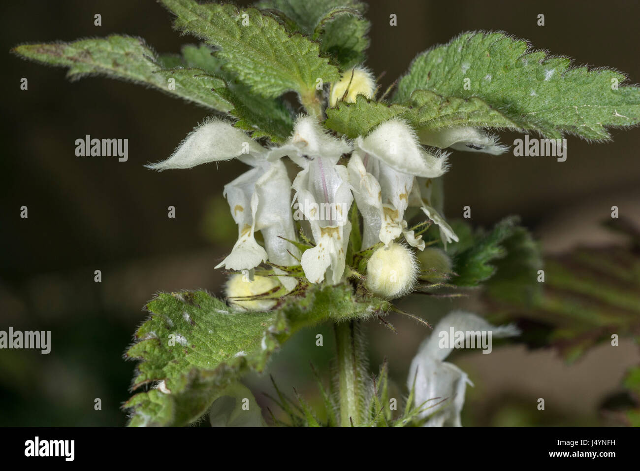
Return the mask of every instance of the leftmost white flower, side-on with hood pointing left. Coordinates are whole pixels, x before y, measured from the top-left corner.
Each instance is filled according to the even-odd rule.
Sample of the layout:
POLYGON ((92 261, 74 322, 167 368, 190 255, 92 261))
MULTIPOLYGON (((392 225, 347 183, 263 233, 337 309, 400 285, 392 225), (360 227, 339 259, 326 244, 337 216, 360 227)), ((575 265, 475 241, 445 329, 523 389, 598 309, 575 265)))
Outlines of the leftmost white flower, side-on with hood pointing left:
MULTIPOLYGON (((237 158, 253 167, 225 185, 223 194, 238 225, 238 240, 216 268, 224 265, 231 270, 251 270, 266 260, 277 265, 296 263, 287 250, 296 256, 299 252, 282 239, 296 238, 289 204, 291 180, 284 163, 271 155, 269 149, 240 129, 210 119, 189 133, 170 158, 148 165, 156 170, 190 169, 201 163, 237 158), (255 231, 262 231, 266 250, 256 242, 255 231)), ((296 285, 292 278, 279 278, 289 290, 296 285)))

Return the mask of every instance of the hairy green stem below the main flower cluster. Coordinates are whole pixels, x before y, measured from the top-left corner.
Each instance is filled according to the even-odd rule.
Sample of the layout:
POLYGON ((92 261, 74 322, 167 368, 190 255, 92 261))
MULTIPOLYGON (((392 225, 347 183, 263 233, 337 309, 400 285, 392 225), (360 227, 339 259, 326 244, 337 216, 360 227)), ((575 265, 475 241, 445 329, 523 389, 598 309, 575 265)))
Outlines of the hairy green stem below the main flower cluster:
POLYGON ((338 356, 338 385, 340 392, 340 426, 358 425, 361 404, 362 348, 356 321, 335 324, 335 345, 338 356))

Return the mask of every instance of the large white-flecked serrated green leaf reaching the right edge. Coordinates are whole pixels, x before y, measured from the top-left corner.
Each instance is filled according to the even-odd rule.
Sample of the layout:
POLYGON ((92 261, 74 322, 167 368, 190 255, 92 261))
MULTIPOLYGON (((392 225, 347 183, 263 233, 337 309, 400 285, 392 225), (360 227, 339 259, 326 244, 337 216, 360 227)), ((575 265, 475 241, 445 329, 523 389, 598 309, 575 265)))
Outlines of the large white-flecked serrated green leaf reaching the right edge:
POLYGON ((609 138, 608 126, 640 122, 640 88, 612 89, 627 80, 625 75, 570 65, 568 58, 534 51, 504 33, 465 33, 417 56, 399 81, 394 101, 408 103, 419 89, 443 97, 477 97, 548 138, 572 133, 602 140, 609 138), (470 89, 465 90, 467 78, 470 89))

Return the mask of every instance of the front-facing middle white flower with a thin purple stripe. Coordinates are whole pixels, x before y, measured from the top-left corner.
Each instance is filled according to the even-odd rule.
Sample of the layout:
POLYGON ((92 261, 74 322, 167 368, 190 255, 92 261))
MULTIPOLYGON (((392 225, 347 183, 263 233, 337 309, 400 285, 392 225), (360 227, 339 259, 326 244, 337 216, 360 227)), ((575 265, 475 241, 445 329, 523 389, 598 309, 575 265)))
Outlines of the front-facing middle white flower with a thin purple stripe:
POLYGON ((328 135, 316 119, 296 120, 294 132, 285 145, 273 149, 269 158, 288 155, 302 170, 293 181, 296 219, 308 220, 315 247, 302 254, 301 266, 311 283, 327 279, 339 283, 346 265, 345 256, 353 202, 348 171, 337 161, 351 152, 348 142, 328 135))

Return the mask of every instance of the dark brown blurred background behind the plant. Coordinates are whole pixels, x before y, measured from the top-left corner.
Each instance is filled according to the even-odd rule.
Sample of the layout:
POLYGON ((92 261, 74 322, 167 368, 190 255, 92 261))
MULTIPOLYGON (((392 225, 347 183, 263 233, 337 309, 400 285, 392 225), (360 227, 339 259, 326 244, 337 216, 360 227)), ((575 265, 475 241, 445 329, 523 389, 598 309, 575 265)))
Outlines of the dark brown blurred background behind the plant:
MULTIPOLYGON (((385 72, 385 89, 431 45, 461 31, 504 30, 578 64, 616 67, 636 83, 639 17, 635 1, 376 1, 369 7, 367 65, 376 74, 385 72), (396 27, 389 26, 391 13, 396 27), (539 13, 545 26, 536 25, 539 13)), ((171 23, 170 14, 151 0, 3 4, 0 329, 51 330, 52 352, 0 351, 0 425, 125 424, 119 407, 129 395, 134 365, 122 354, 145 318, 143 304, 161 290, 218 292, 224 281, 213 267, 232 246, 236 229, 221 190, 244 171, 243 164, 163 173, 143 167, 170 155, 207 111, 113 79, 71 83, 63 69, 8 53, 22 42, 111 33, 143 37, 162 53, 196 43, 172 31, 171 23), (95 13, 102 15, 102 26, 93 26, 95 13), (23 77, 28 90, 20 90, 23 77), (74 141, 87 134, 128 138, 129 160, 77 157, 74 141), (28 219, 20 219, 20 206, 28 206, 28 219), (175 206, 175 219, 167 217, 168 206, 175 206), (94 270, 102 270, 102 283, 94 283, 94 270), (101 411, 93 408, 95 398, 102 399, 101 411)), ((470 205, 477 226, 520 214, 548 251, 603 242, 606 236, 595 222, 608 217, 612 205, 640 219, 640 129, 614 130, 612 136, 606 144, 569 138, 563 163, 511 153, 454 153, 445 178, 445 213, 460 217, 470 205)), ((515 137, 504 133, 502 142, 512 144, 515 137)), ((422 298, 403 304, 432 324, 453 306, 432 306, 422 298)), ((390 321, 398 336, 376 323, 368 326, 372 370, 387 356, 401 394, 410 358, 428 332, 397 316, 390 321)), ((285 388, 317 394, 308 381, 308 361, 328 365, 331 338, 328 326, 298 334, 276 356, 271 372, 285 388), (317 332, 329 339, 323 349, 315 346, 317 332)), ((623 339, 614 352, 592 351, 576 365, 565 365, 553 352, 521 347, 452 360, 476 383, 468 392, 464 424, 597 425, 599 402, 638 356, 623 339), (529 406, 542 394, 556 398, 544 419, 529 406)), ((247 384, 257 396, 269 389, 260 377, 247 384)))

